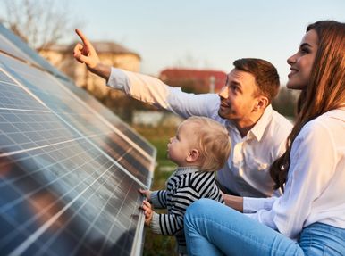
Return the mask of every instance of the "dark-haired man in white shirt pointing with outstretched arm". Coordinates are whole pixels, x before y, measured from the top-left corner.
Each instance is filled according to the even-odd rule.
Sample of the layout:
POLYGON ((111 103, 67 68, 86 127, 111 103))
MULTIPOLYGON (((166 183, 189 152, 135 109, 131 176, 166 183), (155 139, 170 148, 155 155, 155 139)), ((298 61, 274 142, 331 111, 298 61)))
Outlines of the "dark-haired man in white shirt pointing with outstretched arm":
POLYGON ((279 90, 279 76, 270 62, 237 60, 219 95, 187 94, 157 78, 103 64, 88 39, 79 29, 76 32, 83 44, 74 47, 75 59, 105 78, 109 87, 184 118, 206 116, 228 129, 231 156, 217 175, 223 192, 248 197, 274 193, 269 167, 285 151, 292 125, 272 109, 271 101, 279 90))

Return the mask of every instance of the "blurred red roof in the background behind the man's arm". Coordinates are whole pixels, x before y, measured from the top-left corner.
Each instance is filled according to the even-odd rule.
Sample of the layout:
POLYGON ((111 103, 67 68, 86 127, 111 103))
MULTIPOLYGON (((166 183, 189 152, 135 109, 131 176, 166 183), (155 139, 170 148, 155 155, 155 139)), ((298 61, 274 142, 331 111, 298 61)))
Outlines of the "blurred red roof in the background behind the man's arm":
POLYGON ((166 69, 161 71, 159 78, 173 84, 191 80, 195 83, 196 89, 203 89, 202 91, 209 91, 211 80, 214 79, 215 92, 219 92, 225 85, 226 73, 219 70, 166 69))

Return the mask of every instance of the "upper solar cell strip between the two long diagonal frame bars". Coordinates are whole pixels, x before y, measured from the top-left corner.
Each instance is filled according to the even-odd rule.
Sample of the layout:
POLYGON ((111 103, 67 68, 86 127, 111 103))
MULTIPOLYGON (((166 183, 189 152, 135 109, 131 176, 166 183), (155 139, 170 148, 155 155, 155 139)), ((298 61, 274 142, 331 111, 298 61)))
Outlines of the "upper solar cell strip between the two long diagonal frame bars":
MULTIPOLYGON (((4 56, 4 58, 7 57, 4 56)), ((85 108, 84 103, 76 101, 75 95, 67 91, 63 85, 56 87, 58 80, 50 78, 46 73, 26 66, 21 62, 11 61, 13 63, 10 60, 7 63, 12 63, 15 67, 16 70, 10 70, 10 72, 13 73, 16 80, 28 83, 29 89, 35 95, 38 95, 39 99, 42 99, 48 108, 52 109, 68 124, 71 124, 72 127, 77 128, 83 136, 87 136, 91 141, 97 142, 97 145, 101 145, 107 152, 112 152, 113 157, 119 157, 126 153, 122 158, 122 162, 126 163, 124 167, 130 172, 135 172, 135 176, 147 184, 150 179, 149 169, 151 168, 152 161, 145 149, 134 143, 118 128, 115 128, 114 132, 114 128, 106 126, 104 121, 95 115, 92 110, 85 108), (146 160, 142 160, 143 157, 146 160), (129 159, 130 161, 126 161, 129 159)), ((136 139, 136 142, 139 141, 139 137, 132 136, 133 138, 136 139)))

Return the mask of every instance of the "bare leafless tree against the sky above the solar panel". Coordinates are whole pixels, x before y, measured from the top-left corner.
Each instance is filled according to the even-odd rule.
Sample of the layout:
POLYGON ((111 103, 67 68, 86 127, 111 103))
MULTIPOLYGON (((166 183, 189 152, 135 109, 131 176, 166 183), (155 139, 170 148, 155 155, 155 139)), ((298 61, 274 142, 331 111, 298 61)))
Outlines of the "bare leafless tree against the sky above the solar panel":
POLYGON ((4 26, 40 51, 57 44, 73 28, 77 21, 72 21, 67 3, 59 4, 53 0, 3 0, 4 26), (66 31, 68 31, 66 33, 66 31))

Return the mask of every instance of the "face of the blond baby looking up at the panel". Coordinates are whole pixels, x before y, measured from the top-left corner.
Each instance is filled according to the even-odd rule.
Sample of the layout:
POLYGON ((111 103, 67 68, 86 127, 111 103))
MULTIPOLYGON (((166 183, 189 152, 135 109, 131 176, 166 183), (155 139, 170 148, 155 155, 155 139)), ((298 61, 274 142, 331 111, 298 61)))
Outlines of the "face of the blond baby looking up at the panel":
POLYGON ((183 122, 177 129, 176 136, 168 143, 168 158, 179 166, 187 165, 187 157, 192 149, 196 148, 196 125, 192 122, 183 122))

